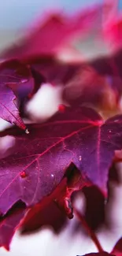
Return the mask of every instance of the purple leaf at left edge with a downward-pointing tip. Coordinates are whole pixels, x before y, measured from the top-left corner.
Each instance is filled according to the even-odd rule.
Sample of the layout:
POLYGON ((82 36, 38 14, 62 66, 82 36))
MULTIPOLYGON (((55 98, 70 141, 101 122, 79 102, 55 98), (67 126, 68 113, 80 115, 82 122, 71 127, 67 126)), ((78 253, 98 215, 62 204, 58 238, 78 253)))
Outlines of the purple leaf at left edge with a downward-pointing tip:
POLYGON ((3 62, 0 65, 0 117, 25 130, 15 100, 24 99, 33 88, 34 79, 26 65, 17 60, 3 62))

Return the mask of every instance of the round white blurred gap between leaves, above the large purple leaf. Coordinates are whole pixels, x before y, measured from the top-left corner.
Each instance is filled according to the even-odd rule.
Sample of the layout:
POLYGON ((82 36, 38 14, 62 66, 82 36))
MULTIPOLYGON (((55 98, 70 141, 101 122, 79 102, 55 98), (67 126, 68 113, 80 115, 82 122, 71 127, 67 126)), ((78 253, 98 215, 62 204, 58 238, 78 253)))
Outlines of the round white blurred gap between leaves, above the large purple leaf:
POLYGON ((61 98, 62 89, 60 85, 42 84, 25 106, 25 112, 31 117, 31 121, 46 121, 57 112, 58 106, 64 103, 61 98))

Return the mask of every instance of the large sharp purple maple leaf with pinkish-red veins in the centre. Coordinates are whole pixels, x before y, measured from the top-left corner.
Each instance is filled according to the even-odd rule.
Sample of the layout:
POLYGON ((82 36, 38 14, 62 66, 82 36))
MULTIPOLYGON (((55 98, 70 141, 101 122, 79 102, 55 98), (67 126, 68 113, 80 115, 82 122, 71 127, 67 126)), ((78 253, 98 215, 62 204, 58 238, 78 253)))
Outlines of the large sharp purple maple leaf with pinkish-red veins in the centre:
POLYGON ((114 150, 122 145, 121 121, 122 116, 104 122, 93 109, 68 108, 44 124, 31 124, 30 135, 16 135, 11 155, 0 162, 2 214, 18 200, 32 206, 49 195, 71 162, 105 192, 114 150))

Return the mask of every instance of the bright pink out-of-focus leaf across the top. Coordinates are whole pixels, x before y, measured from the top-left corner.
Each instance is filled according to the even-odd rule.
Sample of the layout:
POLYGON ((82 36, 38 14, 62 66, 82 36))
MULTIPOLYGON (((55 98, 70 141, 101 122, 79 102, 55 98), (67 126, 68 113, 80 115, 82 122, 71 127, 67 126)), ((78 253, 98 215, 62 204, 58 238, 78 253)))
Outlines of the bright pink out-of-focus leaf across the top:
POLYGON ((117 0, 104 0, 102 5, 80 9, 73 15, 44 13, 31 23, 24 39, 2 52, 1 58, 39 58, 49 54, 62 58, 68 54, 73 61, 82 61, 112 54, 122 44, 122 16, 117 5, 117 0), (84 50, 84 45, 90 49, 84 50), (87 50, 94 53, 87 56, 87 50))

